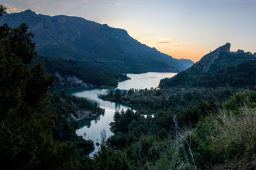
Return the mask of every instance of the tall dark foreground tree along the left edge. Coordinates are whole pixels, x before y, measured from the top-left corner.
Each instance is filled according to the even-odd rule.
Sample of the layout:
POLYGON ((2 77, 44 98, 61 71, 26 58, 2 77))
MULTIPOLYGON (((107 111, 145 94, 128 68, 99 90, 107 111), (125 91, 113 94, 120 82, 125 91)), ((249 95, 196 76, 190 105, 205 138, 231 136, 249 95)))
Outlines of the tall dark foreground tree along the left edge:
POLYGON ((47 94, 54 78, 42 64, 28 67, 37 56, 31 38, 24 23, 0 26, 0 160, 9 169, 74 169, 76 146, 52 138, 47 94))

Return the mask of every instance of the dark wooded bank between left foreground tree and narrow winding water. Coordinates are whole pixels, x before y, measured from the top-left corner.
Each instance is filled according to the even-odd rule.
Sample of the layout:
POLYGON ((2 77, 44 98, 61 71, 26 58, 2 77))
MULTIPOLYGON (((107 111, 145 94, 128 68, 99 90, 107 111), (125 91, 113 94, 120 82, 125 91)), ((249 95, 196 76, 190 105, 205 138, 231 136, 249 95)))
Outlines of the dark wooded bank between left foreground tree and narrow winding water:
POLYGON ((52 128, 54 140, 61 142, 72 141, 79 148, 84 149, 83 154, 85 155, 92 152, 94 150, 93 142, 84 141, 83 138, 77 136, 75 130, 78 129, 78 124, 71 114, 76 116, 77 110, 92 111, 93 113, 104 113, 104 110, 99 108, 97 103, 92 104, 82 97, 66 96, 63 91, 60 96, 54 93, 49 94, 48 100, 50 102, 48 110, 55 113, 57 117, 52 128))

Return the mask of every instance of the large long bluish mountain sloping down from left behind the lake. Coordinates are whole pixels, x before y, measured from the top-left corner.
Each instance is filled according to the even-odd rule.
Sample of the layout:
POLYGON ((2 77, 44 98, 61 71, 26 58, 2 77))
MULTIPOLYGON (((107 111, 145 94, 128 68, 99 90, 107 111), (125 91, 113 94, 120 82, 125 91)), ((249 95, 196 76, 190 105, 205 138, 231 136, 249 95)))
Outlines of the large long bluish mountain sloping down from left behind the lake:
POLYGON ((0 24, 18 27, 26 22, 35 35, 40 55, 76 60, 97 71, 143 73, 179 72, 187 61, 174 59, 133 39, 124 29, 65 15, 36 15, 31 10, 4 14, 0 24))

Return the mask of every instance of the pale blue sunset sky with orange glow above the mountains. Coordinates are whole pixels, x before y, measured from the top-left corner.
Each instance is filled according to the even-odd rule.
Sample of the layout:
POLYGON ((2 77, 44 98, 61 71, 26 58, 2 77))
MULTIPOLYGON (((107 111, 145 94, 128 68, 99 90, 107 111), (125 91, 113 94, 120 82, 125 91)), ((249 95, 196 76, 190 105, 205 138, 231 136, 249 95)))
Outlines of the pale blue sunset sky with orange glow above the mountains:
POLYGON ((231 43, 256 52, 256 0, 2 0, 8 13, 70 15, 125 29, 177 59, 200 60, 231 43))

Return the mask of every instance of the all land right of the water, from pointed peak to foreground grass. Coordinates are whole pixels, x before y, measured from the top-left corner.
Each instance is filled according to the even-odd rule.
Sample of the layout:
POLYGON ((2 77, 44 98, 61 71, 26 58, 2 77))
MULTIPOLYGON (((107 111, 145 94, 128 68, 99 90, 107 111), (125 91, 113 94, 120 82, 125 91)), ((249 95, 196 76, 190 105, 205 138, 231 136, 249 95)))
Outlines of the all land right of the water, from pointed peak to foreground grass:
POLYGON ((246 90, 255 90, 255 55, 229 48, 161 80, 163 89, 102 96, 138 111, 116 111, 106 145, 134 169, 255 169, 256 93, 246 90))

